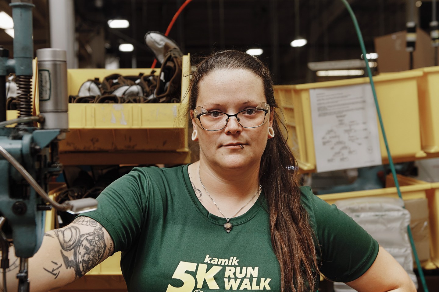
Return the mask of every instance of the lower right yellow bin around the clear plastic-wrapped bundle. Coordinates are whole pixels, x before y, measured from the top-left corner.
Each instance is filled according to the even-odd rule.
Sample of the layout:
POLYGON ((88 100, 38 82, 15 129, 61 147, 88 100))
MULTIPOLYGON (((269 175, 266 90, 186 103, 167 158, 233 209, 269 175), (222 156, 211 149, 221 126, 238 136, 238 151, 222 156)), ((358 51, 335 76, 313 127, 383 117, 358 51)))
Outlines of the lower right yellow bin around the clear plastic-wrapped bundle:
MULTIPOLYGON (((415 199, 427 199, 429 205, 429 211, 431 213, 431 201, 430 201, 430 193, 432 190, 431 183, 427 183, 417 179, 406 178, 403 176, 398 176, 398 181, 400 183, 400 190, 403 196, 403 200, 415 200, 415 199)), ((388 182, 390 182, 388 180, 388 182)), ((390 182, 392 183, 392 182, 390 182)), ((438 184, 439 187, 439 184, 438 184)), ((360 197, 398 197, 398 193, 396 191, 396 187, 385 187, 382 189, 376 190, 361 190, 355 192, 345 192, 345 193, 332 193, 332 194, 324 194, 318 195, 328 204, 334 204, 335 201, 343 200, 343 199, 352 199, 352 198, 360 198, 360 197)), ((429 224, 430 224, 430 240, 435 237, 434 231, 432 230, 432 216, 429 216, 429 224)), ((434 243, 430 241, 430 259, 424 260, 421 262, 422 267, 425 269, 435 269, 437 264, 434 258, 433 250, 438 249, 439 247, 434 246, 434 243)))

